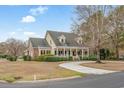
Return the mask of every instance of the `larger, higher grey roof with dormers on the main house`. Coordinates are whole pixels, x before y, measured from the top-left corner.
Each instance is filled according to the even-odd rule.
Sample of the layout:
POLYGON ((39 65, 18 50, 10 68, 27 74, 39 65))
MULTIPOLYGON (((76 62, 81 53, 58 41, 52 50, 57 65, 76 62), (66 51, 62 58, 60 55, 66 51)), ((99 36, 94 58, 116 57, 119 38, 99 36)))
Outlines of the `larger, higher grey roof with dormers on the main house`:
POLYGON ((77 43, 75 40, 77 37, 79 37, 77 34, 69 33, 69 32, 57 32, 57 31, 47 31, 49 33, 55 43, 56 46, 70 46, 70 47, 82 47, 82 44, 77 43), (66 38, 65 44, 59 42, 60 36, 64 35, 66 38))

